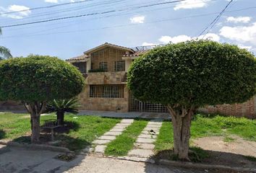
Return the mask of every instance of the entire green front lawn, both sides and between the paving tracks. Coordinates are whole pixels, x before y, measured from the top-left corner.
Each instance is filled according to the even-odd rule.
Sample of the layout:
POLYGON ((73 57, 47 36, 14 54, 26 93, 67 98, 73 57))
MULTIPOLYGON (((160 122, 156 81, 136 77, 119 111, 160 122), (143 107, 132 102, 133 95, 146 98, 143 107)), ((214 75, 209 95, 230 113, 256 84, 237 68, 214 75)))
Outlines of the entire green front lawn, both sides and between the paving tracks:
MULTIPOLYGON (((55 119, 55 115, 41 116, 43 120, 55 119)), ((93 140, 102 136, 114 127, 120 119, 98 116, 65 115, 65 120, 72 123, 73 128, 69 133, 59 133, 56 140, 61 141, 57 146, 64 146, 72 151, 77 151, 90 145, 93 140)), ((114 141, 108 143, 107 155, 124 156, 133 148, 137 136, 147 125, 147 120, 135 120, 132 125, 114 141)), ((197 114, 192 120, 191 138, 205 136, 223 136, 224 141, 234 141, 231 135, 240 136, 245 140, 256 141, 256 120, 239 117, 207 117, 197 114)), ((15 141, 27 141, 30 135, 30 117, 28 114, 0 114, 0 139, 14 139, 15 141)), ((171 122, 164 121, 160 134, 155 141, 155 151, 163 151, 173 148, 173 130, 171 122)))

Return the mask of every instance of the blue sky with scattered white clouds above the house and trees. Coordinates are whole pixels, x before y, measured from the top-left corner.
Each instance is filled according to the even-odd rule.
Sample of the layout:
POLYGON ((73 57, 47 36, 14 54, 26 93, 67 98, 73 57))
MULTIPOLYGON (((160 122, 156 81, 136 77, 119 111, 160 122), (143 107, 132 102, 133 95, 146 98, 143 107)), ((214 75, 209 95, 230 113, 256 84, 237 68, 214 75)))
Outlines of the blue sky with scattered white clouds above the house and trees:
MULTIPOLYGON (((33 53, 67 59, 106 42, 127 47, 178 43, 198 37, 229 3, 228 0, 187 0, 152 6, 169 1, 174 0, 88 0, 30 10, 74 0, 1 0, 0 13, 27 11, 1 14, 0 27, 80 14, 118 12, 4 27, 0 45, 9 48, 13 56, 33 53), (141 7, 146 5, 149 6, 141 7)), ((256 1, 234 0, 204 38, 233 43, 256 53, 256 1)))

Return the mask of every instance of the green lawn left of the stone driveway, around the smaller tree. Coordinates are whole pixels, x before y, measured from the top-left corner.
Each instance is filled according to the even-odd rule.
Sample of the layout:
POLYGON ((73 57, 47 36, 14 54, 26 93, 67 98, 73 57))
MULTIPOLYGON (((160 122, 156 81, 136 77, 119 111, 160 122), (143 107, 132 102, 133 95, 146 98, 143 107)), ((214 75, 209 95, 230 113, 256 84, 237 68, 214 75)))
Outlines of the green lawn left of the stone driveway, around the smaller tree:
MULTIPOLYGON (((55 119, 55 115, 41 116, 43 120, 55 119)), ((61 141, 57 146, 64 146, 77 151, 90 145, 93 140, 106 133, 119 123, 119 119, 98 116, 65 115, 65 121, 74 126, 69 133, 59 133, 56 140, 61 141), (76 117, 76 118, 74 118, 76 117)), ((26 133, 30 133, 30 117, 27 114, 0 114, 0 139, 9 138, 14 141, 29 142, 26 133)))

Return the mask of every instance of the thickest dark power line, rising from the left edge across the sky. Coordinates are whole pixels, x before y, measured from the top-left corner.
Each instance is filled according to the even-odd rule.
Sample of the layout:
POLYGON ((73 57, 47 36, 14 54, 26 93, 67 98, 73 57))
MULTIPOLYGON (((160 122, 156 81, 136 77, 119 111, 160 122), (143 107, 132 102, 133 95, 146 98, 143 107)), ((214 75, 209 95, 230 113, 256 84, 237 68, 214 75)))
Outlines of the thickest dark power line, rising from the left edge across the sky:
MULTIPOLYGON (((158 5, 163 5, 163 4, 172 4, 172 3, 177 3, 180 1, 187 1, 187 0, 167 1, 167 2, 161 2, 161 3, 156 3, 156 4, 137 6, 136 9, 146 8, 146 7, 150 7, 150 6, 158 6, 158 5)), ((5 25, 5 26, 1 26, 1 28, 17 27, 17 26, 22 26, 22 25, 32 25, 32 24, 37 24, 37 23, 51 22, 51 21, 62 20, 62 19, 72 19, 72 18, 77 18, 77 17, 86 17, 86 16, 97 15, 97 14, 108 14, 108 13, 112 13, 112 12, 121 12, 124 10, 126 10, 126 9, 117 9, 117 10, 114 9, 114 10, 110 10, 110 11, 106 11, 106 12, 95 12, 95 13, 90 13, 90 14, 80 14, 80 15, 69 16, 69 17, 59 17, 59 18, 46 19, 46 20, 40 20, 40 21, 35 21, 35 22, 26 22, 26 23, 21 23, 21 24, 16 24, 16 25, 5 25)))

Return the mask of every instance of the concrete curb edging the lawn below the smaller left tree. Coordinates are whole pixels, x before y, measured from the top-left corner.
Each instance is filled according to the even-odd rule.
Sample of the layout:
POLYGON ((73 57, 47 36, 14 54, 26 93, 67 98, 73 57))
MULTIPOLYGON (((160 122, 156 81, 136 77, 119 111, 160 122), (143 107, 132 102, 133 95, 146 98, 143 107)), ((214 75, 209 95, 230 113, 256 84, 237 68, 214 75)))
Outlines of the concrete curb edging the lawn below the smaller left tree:
POLYGON ((48 146, 43 144, 25 144, 25 143, 17 143, 12 141, 0 141, 0 144, 5 146, 25 147, 28 149, 48 150, 48 151, 56 151, 56 152, 63 152, 63 153, 74 153, 73 151, 70 151, 68 148, 61 147, 61 146, 48 146))

